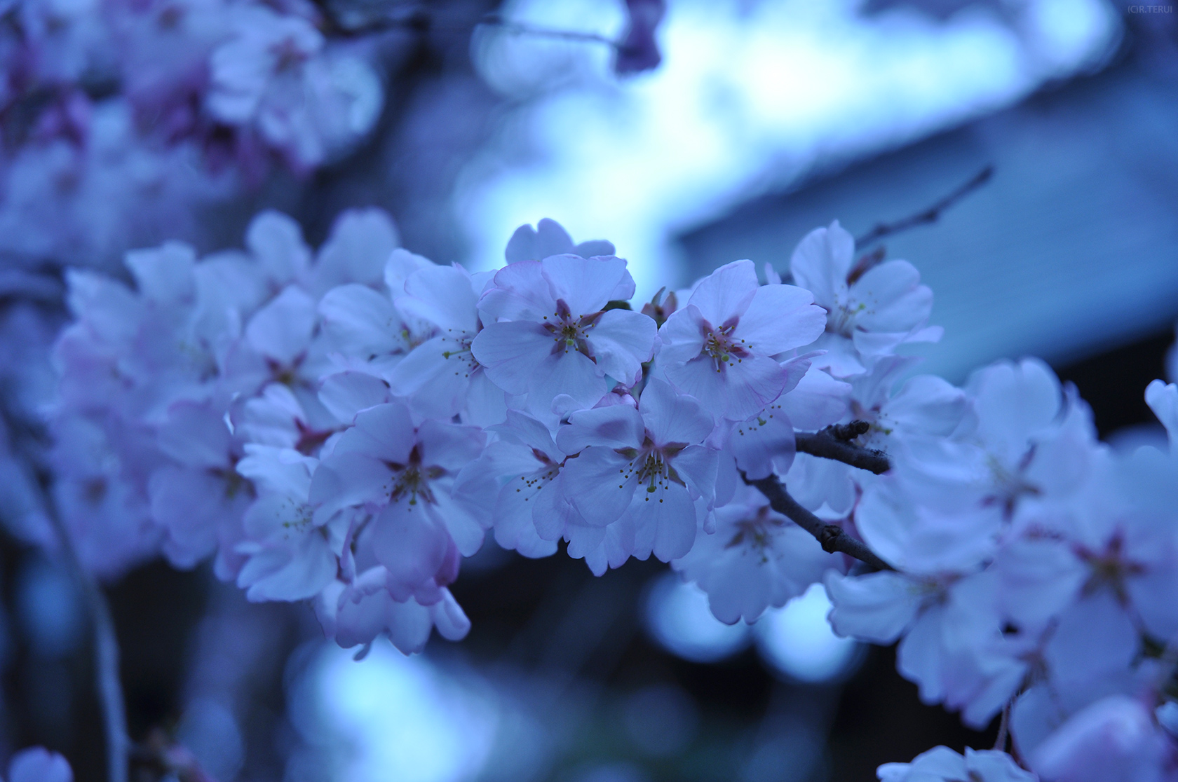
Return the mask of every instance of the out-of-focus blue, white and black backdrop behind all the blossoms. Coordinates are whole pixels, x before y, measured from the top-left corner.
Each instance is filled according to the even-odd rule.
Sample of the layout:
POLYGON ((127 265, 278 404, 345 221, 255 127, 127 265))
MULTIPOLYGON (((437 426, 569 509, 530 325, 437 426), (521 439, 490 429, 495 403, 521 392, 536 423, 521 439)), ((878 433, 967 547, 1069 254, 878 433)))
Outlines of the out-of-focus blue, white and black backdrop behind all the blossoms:
MULTIPOLYGON (((411 24, 372 34, 383 108, 346 157, 174 219, 104 224, 70 256, 29 252, 0 201, 7 398, 35 410, 52 395, 65 266, 120 273, 123 251, 165 238, 237 246, 263 207, 317 244, 340 210, 380 206, 408 248, 477 269, 550 217, 613 240, 649 297, 737 258, 783 270, 810 228, 862 233, 992 165, 937 224, 886 241, 945 326, 921 371, 958 383, 1041 356, 1104 438, 1154 436, 1143 390, 1166 376, 1178 319, 1173 6, 670 0, 662 62, 620 77, 608 45, 519 26, 614 40, 621 0, 337 6, 380 4, 411 24)), ((0 754, 46 744, 99 780, 86 617, 68 575, 13 532, 14 469, 0 464, 0 754)), ((358 662, 309 607, 249 604, 207 568, 150 563, 107 591, 132 737, 183 748, 220 782, 871 780, 997 730, 922 705, 892 649, 834 637, 821 589, 729 628, 657 562, 594 578, 488 541, 454 588, 464 642, 412 658, 377 644, 358 662)))

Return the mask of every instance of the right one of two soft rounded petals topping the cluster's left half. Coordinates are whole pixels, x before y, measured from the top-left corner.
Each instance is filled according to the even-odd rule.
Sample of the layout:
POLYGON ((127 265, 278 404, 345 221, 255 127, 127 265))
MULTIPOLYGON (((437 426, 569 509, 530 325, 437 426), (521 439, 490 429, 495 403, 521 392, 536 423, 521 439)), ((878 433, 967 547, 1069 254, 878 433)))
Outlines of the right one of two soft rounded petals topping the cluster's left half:
POLYGON ((379 283, 385 261, 398 244, 397 226, 385 212, 378 208, 343 212, 316 259, 317 290, 345 283, 379 283))

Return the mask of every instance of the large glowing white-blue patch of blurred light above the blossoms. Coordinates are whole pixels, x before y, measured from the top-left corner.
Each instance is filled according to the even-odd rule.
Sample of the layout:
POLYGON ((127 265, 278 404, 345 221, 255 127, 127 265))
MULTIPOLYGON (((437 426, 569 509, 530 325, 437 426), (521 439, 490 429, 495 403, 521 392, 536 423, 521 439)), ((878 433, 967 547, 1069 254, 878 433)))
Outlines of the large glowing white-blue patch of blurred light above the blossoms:
MULTIPOLYGON (((816 165, 1008 106, 1099 65, 1119 37, 1105 0, 1032 0, 1013 22, 981 8, 862 18, 858 5, 673 2, 662 65, 622 82, 608 47, 487 31, 481 72, 531 100, 457 197, 478 263, 498 260, 510 226, 548 214, 575 236, 608 228, 647 299, 682 281, 675 232, 816 165)), ((620 6, 517 0, 504 16, 616 38, 620 6)))

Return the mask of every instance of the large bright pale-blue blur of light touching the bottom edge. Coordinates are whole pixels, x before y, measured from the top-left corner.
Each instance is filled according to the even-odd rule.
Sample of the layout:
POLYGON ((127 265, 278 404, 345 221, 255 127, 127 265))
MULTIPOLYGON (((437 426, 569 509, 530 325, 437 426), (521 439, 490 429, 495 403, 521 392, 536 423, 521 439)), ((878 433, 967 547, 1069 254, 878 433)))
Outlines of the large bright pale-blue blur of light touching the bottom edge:
POLYGON ((483 771, 499 720, 490 690, 388 644, 362 661, 324 645, 291 690, 303 740, 337 782, 459 782, 483 771))

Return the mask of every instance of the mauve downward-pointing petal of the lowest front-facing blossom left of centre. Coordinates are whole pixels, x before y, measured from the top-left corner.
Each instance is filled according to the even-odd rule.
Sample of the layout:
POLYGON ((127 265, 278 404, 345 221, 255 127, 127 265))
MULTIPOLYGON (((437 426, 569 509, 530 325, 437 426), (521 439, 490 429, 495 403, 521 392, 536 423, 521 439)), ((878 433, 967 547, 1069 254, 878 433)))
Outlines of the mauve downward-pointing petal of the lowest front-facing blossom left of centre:
POLYGON ((411 505, 408 498, 402 498, 372 519, 371 543, 377 562, 389 569, 392 596, 409 599, 442 566, 450 534, 426 511, 424 503, 411 505))

